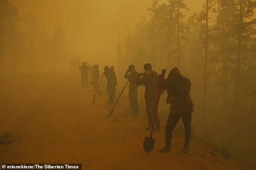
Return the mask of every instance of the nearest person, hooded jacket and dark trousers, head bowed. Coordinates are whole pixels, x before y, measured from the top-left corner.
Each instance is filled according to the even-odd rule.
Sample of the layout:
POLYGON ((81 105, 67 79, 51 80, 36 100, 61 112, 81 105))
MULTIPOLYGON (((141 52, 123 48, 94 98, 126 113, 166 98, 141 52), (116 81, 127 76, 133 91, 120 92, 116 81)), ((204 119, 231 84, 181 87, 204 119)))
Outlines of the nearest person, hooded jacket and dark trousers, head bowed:
POLYGON ((185 129, 185 142, 183 152, 188 153, 189 141, 191 139, 191 113, 193 111, 193 102, 190 95, 191 81, 184 77, 177 67, 172 68, 168 77, 162 84, 162 89, 168 93, 166 99, 170 106, 170 114, 166 124, 166 145, 160 152, 168 152, 171 150, 172 130, 180 120, 183 121, 185 129))

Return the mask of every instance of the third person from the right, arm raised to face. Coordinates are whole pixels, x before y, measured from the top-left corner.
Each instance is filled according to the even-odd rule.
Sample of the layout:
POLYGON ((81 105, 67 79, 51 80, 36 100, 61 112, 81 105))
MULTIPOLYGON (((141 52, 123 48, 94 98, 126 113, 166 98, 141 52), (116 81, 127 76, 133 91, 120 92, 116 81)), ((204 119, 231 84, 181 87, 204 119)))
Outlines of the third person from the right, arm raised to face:
POLYGON ((135 70, 135 66, 131 64, 128 66, 124 78, 129 80, 128 96, 130 99, 130 108, 134 115, 138 115, 138 87, 136 85, 136 77, 138 77, 138 72, 135 70))

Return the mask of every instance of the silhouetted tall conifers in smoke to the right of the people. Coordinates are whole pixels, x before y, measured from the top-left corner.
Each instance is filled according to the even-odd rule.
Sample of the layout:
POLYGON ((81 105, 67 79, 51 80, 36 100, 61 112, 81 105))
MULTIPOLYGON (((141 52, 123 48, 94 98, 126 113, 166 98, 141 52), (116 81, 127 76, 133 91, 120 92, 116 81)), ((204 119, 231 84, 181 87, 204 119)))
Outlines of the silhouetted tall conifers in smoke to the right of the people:
POLYGON ((117 46, 121 66, 150 62, 158 73, 178 66, 192 81, 194 133, 254 165, 255 7, 252 0, 206 0, 201 12, 185 19, 183 0, 153 0, 149 21, 141 17, 117 46))

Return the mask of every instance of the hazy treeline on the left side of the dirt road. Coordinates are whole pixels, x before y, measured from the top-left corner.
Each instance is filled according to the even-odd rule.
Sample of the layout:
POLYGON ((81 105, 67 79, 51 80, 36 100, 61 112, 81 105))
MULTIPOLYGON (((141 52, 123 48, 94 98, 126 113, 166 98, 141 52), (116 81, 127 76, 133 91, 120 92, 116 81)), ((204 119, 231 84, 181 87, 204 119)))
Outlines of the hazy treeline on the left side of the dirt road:
MULTIPOLYGON (((65 63, 65 37, 60 27, 52 35, 38 31, 34 15, 27 10, 23 20, 8 0, 0 2, 0 74, 56 70, 65 63)), ((66 61, 67 62, 67 61, 66 61)), ((67 62, 68 63, 68 62, 67 62)))

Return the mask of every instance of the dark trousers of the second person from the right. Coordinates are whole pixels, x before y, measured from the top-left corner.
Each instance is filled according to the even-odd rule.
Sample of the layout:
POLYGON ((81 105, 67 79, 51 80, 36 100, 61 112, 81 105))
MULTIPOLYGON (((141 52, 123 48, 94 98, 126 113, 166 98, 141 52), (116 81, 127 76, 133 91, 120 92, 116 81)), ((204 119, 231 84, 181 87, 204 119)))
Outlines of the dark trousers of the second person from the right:
MULTIPOLYGON (((149 122, 149 126, 151 126, 153 121, 153 116, 155 114, 156 102, 148 99, 145 99, 145 101, 146 101, 147 120, 149 122)), ((158 117, 155 120, 155 126, 160 127, 160 120, 158 117)))

